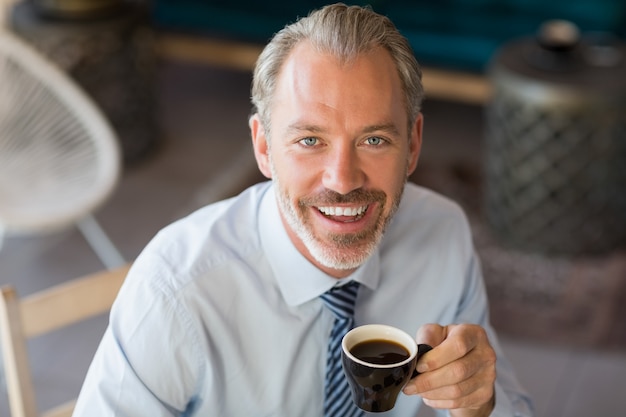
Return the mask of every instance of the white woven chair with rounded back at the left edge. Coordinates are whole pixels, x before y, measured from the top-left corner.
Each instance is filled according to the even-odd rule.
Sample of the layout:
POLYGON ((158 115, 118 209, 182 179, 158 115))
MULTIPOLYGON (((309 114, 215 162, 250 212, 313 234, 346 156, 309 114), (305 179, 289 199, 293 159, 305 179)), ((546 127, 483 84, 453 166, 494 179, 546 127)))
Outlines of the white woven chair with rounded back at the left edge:
POLYGON ((117 137, 66 73, 0 27, 0 247, 3 234, 76 224, 109 268, 124 259, 92 213, 119 179, 117 137))

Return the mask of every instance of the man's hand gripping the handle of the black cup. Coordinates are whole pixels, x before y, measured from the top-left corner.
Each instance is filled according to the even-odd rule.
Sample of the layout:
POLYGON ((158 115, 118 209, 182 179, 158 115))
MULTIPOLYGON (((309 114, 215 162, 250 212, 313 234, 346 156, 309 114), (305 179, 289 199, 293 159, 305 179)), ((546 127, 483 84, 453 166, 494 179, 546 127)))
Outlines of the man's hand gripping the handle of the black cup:
POLYGON ((454 417, 488 416, 495 406, 496 354, 485 330, 427 324, 416 340, 433 350, 420 357, 421 375, 409 381, 404 393, 419 394, 428 406, 450 410, 454 417))

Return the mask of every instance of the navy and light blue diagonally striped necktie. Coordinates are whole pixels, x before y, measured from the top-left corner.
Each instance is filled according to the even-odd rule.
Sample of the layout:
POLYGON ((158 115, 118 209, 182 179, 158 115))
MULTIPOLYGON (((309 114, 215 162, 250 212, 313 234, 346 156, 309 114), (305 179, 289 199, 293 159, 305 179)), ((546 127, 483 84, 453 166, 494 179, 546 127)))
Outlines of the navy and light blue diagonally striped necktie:
POLYGON ((326 385, 324 387, 324 417, 357 417, 363 411, 352 402, 350 386, 341 369, 341 339, 354 326, 354 301, 358 282, 331 288, 320 297, 335 316, 328 341, 326 385))

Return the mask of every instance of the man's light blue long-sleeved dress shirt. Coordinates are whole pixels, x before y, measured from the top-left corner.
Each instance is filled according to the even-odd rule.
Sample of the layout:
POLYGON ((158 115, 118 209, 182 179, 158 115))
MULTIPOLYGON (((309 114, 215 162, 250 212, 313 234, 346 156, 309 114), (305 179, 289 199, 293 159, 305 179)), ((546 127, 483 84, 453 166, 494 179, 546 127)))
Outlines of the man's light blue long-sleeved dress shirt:
MULTIPOLYGON (((378 250, 346 280, 362 285, 356 324, 414 335, 424 323, 478 323, 498 353, 496 410, 527 397, 488 323, 480 266, 460 208, 408 184, 378 250)), ((113 306, 75 417, 321 417, 337 284, 293 246, 272 183, 166 227, 134 263, 113 306)), ((415 416, 400 394, 385 416, 415 416)), ((381 415, 381 414, 378 414, 381 415)))

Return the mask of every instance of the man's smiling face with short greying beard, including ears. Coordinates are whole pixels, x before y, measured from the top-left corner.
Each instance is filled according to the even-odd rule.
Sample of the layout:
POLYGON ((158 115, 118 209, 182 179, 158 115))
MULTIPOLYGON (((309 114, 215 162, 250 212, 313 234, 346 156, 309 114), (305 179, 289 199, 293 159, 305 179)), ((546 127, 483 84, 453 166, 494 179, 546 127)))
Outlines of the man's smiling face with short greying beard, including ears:
POLYGON ((341 65, 304 42, 284 63, 270 138, 251 121, 261 171, 273 178, 283 223, 298 250, 343 277, 380 242, 421 145, 389 53, 341 65))

